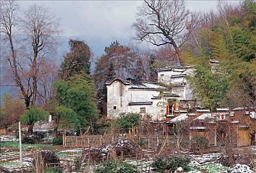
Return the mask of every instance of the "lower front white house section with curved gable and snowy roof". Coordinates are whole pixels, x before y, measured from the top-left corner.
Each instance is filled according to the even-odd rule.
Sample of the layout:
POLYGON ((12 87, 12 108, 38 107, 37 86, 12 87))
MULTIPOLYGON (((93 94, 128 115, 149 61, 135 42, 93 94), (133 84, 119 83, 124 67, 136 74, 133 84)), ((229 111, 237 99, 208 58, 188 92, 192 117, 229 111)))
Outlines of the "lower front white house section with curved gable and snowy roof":
POLYGON ((162 120, 166 114, 167 100, 179 95, 154 82, 138 82, 116 78, 106 83, 107 117, 114 119, 120 113, 150 114, 154 120, 162 120))

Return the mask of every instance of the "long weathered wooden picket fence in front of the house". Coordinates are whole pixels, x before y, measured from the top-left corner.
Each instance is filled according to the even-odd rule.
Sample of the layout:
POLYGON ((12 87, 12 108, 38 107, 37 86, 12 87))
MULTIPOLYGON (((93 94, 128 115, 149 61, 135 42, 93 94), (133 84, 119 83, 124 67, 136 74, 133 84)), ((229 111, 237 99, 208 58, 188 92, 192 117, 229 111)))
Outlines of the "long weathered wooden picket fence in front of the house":
POLYGON ((120 135, 84 135, 84 136, 65 136, 63 135, 63 145, 66 147, 90 147, 111 144, 117 139, 132 139, 143 148, 153 148, 163 145, 173 148, 189 148, 190 140, 188 137, 175 138, 165 135, 147 136, 120 136, 120 135))

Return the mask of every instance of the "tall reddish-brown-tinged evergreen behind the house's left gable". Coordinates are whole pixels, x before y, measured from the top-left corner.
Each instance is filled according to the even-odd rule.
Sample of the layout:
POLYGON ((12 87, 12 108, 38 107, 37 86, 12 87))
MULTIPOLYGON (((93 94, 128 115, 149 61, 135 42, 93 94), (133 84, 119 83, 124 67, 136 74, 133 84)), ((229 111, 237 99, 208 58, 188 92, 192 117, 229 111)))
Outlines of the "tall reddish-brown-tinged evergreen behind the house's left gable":
MULTIPOLYGON (((134 77, 136 63, 136 53, 129 47, 121 45, 118 41, 111 43, 104 49, 105 54, 96 62, 94 81, 96 85, 97 106, 101 115, 106 115, 107 111, 107 88, 105 83, 116 77, 126 79, 134 77)), ((140 67, 141 70, 141 67, 140 67)))

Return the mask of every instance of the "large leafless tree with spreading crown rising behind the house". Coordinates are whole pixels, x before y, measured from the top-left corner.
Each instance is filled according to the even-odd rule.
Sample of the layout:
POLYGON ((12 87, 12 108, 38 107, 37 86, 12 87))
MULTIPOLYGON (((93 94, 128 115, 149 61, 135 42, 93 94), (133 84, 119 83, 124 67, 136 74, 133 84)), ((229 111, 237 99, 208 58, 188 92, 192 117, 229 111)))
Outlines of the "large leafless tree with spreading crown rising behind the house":
POLYGON ((188 39, 192 26, 190 12, 183 0, 144 0, 138 8, 138 17, 132 27, 137 32, 136 40, 156 46, 171 44, 179 63, 180 46, 188 39))

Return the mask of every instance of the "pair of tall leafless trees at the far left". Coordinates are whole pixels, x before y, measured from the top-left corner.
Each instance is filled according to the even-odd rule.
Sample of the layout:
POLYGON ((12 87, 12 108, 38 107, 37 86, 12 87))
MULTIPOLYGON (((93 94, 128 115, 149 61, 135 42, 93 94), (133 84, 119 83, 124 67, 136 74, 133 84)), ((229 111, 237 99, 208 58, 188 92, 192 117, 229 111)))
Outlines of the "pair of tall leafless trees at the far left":
MULTIPOLYGON (((47 74, 42 70, 44 62, 56 48, 56 38, 62 30, 60 19, 56 18, 47 8, 33 4, 17 17, 16 1, 1 2, 1 34, 6 47, 1 56, 3 65, 11 73, 9 86, 19 87, 26 107, 33 107, 37 99, 38 81, 47 74), (13 31, 18 31, 14 33, 13 31), (21 39, 15 34, 20 34, 21 39)), ((2 44, 3 45, 3 44, 2 44)))

